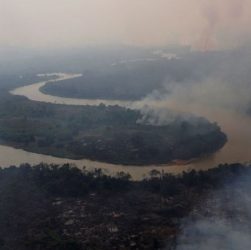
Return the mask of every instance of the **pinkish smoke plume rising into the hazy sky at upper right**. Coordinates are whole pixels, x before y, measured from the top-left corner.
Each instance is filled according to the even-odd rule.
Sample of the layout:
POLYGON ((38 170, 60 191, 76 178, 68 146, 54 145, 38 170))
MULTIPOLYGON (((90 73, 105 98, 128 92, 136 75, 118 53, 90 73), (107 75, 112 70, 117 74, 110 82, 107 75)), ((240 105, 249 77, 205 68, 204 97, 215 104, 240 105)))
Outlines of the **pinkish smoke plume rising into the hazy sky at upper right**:
POLYGON ((250 21, 246 0, 203 1, 204 28, 195 47, 203 51, 240 46, 250 41, 247 23, 250 21))

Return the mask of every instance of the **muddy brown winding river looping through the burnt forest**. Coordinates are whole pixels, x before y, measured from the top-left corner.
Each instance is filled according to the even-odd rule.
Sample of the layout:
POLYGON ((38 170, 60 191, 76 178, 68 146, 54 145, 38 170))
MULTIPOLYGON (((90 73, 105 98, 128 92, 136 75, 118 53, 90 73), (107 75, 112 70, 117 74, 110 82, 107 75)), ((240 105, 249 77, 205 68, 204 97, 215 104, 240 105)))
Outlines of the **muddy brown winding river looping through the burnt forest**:
MULTIPOLYGON (((72 79, 82 76, 81 74, 65 74, 55 73, 41 75, 43 76, 56 76, 56 79, 49 80, 62 81, 65 79, 72 79)), ((120 105, 130 108, 139 108, 143 106, 144 101, 138 102, 126 102, 116 100, 89 100, 89 99, 74 99, 63 98, 57 96, 46 95, 40 92, 40 88, 44 86, 48 81, 41 81, 24 87, 20 87, 11 91, 13 95, 25 96, 30 100, 47 102, 54 104, 65 105, 99 105, 104 103, 106 105, 120 105)), ((149 104, 149 102, 148 102, 149 104)), ((176 102, 152 103, 152 105, 165 105, 165 107, 176 109, 183 112, 191 112, 196 115, 204 116, 210 121, 216 121, 222 128, 222 130, 228 136, 228 143, 216 154, 202 158, 186 165, 161 165, 161 166, 122 166, 113 165, 102 162, 90 161, 90 160, 70 160, 57 158, 48 155, 41 155, 31 152, 26 152, 21 149, 15 149, 8 146, 0 146, 0 165, 7 167, 9 165, 19 165, 24 162, 30 164, 44 163, 74 163, 76 166, 82 168, 85 166, 87 169, 101 168, 109 174, 114 174, 119 171, 129 172, 134 179, 141 179, 146 176, 150 170, 158 168, 160 171, 168 173, 181 173, 191 169, 206 170, 217 166, 220 163, 234 163, 234 162, 250 162, 251 160, 251 119, 247 116, 243 116, 237 112, 227 110, 226 108, 210 108, 207 105, 196 105, 195 103, 181 103, 180 100, 176 102)))

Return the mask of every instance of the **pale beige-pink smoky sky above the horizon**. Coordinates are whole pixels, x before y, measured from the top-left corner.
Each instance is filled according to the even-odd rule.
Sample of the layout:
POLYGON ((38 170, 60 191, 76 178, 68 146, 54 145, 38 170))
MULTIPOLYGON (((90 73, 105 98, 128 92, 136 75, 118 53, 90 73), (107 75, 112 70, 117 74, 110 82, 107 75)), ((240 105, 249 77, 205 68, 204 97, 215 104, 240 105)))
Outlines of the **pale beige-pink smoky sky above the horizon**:
POLYGON ((0 46, 238 46, 251 0, 0 0, 0 46))

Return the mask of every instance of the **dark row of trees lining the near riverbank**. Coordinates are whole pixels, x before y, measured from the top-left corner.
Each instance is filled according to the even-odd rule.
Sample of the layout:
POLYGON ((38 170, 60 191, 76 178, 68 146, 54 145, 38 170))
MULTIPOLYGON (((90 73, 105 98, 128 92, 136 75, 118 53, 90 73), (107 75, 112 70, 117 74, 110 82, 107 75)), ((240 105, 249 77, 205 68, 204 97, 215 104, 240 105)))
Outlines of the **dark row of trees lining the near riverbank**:
POLYGON ((129 189, 140 188, 164 196, 173 196, 184 192, 186 188, 218 188, 224 183, 231 183, 239 176, 251 174, 251 167, 242 164, 219 165, 207 171, 189 171, 180 175, 162 173, 158 170, 149 172, 142 181, 132 181, 125 172, 115 176, 106 175, 102 169, 87 171, 73 165, 31 166, 23 164, 0 169, 0 182, 5 180, 17 181, 20 185, 32 184, 42 190, 43 194, 51 197, 81 197, 90 192, 126 192, 129 189))

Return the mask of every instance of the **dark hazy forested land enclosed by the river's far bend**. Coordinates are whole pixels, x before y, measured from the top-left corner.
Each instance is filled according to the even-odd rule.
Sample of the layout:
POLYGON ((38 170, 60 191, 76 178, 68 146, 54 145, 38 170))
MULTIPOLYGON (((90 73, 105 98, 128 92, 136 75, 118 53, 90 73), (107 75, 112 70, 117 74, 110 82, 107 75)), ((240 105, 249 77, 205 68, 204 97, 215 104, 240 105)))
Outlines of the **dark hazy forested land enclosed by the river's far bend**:
POLYGON ((41 91, 62 97, 139 100, 155 89, 163 89, 167 75, 174 81, 179 71, 181 78, 184 74, 182 66, 177 60, 149 62, 142 59, 140 63, 122 63, 110 66, 105 71, 85 71, 80 78, 47 83, 41 91), (178 68, 178 65, 181 67, 178 68))

